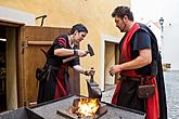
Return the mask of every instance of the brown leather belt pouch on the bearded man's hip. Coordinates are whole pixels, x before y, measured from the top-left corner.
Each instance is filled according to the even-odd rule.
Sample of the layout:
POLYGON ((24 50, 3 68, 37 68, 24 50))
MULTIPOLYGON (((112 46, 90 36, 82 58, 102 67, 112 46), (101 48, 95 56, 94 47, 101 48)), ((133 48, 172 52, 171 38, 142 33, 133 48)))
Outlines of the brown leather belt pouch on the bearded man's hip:
POLYGON ((154 95, 155 85, 154 84, 143 84, 138 88, 138 96, 140 98, 148 98, 154 95))

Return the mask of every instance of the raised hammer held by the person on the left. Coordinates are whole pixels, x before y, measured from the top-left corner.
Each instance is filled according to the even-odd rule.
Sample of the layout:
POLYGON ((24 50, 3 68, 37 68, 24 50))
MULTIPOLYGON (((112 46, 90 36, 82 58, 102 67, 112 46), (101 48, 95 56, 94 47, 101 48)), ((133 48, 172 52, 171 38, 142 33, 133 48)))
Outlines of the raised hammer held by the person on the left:
MULTIPOLYGON (((93 56, 94 52, 92 50, 92 47, 90 44, 88 44, 87 47, 88 47, 88 50, 86 52, 89 53, 90 56, 93 56)), ((75 60, 77 57, 79 57, 79 56, 78 55, 74 55, 74 56, 67 57, 67 58, 63 60, 63 63, 71 62, 71 61, 73 61, 73 60, 75 60)))

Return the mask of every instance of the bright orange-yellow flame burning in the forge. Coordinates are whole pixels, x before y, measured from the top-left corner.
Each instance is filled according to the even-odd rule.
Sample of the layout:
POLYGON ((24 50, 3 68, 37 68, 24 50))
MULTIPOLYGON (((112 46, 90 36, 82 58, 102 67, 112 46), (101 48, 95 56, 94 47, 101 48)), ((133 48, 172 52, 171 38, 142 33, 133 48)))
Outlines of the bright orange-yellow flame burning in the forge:
POLYGON ((80 98, 77 113, 81 116, 91 117, 95 115, 99 108, 100 103, 98 98, 80 98))

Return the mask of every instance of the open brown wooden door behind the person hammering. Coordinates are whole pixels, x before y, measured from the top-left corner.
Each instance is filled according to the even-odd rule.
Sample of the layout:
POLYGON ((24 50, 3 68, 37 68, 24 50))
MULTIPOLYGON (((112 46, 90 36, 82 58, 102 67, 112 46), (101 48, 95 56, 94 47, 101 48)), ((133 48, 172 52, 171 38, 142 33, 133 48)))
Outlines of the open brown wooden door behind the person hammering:
MULTIPOLYGON (((37 101, 38 81, 35 70, 42 67, 46 61, 40 49, 48 50, 54 39, 62 34, 67 34, 69 28, 25 26, 23 39, 23 79, 24 105, 30 106, 37 101)), ((79 74, 72 70, 71 84, 74 94, 79 94, 79 74), (76 89, 77 88, 77 89, 76 89)))

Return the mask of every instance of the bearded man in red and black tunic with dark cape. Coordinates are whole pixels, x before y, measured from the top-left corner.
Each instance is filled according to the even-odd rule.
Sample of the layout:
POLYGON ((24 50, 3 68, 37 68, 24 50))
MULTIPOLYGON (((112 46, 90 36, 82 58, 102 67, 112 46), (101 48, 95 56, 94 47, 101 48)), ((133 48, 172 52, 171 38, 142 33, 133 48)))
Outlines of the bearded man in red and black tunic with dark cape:
POLYGON ((145 25, 133 22, 128 6, 117 6, 112 16, 116 27, 126 32, 119 42, 119 64, 110 68, 112 76, 120 75, 112 103, 144 111, 146 119, 167 119, 161 55, 154 34, 145 25), (155 85, 151 97, 138 96, 138 87, 143 78, 155 85))

